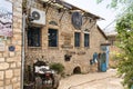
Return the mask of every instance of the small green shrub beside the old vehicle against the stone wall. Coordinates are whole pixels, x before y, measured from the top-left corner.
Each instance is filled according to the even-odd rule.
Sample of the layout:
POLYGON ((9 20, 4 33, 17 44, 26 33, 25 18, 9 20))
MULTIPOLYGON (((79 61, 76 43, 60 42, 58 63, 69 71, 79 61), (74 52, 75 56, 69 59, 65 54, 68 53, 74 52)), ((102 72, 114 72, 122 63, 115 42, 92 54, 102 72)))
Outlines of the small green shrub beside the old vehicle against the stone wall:
POLYGON ((55 70, 60 75, 62 75, 64 70, 64 66, 62 63, 51 63, 50 68, 55 70))

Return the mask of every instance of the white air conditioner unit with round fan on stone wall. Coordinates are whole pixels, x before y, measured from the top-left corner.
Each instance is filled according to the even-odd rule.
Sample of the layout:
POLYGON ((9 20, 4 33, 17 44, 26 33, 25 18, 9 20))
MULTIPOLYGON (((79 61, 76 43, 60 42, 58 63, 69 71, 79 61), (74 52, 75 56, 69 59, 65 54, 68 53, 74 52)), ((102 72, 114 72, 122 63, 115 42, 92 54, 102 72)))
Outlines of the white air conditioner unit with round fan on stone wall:
POLYGON ((35 8, 31 8, 31 17, 35 24, 45 24, 45 12, 35 8))

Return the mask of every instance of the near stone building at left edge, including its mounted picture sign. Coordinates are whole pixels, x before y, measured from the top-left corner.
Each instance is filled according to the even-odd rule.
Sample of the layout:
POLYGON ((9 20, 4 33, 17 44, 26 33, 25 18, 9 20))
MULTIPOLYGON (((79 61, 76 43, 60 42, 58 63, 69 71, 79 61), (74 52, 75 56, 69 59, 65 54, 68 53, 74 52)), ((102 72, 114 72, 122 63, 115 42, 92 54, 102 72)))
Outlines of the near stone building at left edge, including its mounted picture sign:
POLYGON ((0 0, 0 89, 21 88, 22 0, 0 0))

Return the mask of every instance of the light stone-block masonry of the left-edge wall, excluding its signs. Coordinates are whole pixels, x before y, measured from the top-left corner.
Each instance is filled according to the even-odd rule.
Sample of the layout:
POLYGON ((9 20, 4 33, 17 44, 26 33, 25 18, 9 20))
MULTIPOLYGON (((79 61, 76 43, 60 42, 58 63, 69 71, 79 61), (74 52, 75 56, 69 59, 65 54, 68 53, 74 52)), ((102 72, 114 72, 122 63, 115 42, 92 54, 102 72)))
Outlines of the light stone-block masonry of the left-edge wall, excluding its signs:
POLYGON ((2 40, 6 43, 6 50, 0 52, 0 89, 20 89, 22 0, 9 1, 13 4, 13 36, 2 40), (14 46, 16 50, 9 51, 10 46, 14 46))

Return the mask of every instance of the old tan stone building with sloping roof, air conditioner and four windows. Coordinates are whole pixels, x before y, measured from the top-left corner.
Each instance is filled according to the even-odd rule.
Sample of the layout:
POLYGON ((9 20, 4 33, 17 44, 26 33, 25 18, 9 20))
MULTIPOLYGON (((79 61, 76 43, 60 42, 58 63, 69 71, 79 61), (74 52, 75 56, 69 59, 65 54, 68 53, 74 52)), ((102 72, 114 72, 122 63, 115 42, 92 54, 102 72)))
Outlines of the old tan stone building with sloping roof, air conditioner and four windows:
POLYGON ((39 59, 61 62, 66 75, 76 68, 84 73, 90 71, 93 53, 101 52, 101 43, 106 42, 105 34, 96 26, 100 17, 60 0, 31 1, 29 12, 31 18, 41 20, 30 21, 25 29, 25 66, 39 59), (33 11, 40 16, 35 17, 33 11))

